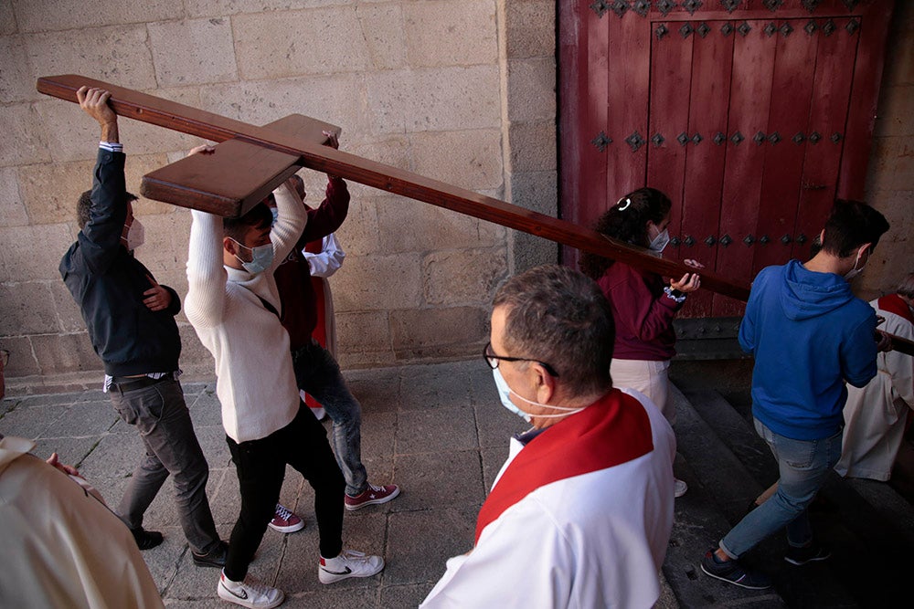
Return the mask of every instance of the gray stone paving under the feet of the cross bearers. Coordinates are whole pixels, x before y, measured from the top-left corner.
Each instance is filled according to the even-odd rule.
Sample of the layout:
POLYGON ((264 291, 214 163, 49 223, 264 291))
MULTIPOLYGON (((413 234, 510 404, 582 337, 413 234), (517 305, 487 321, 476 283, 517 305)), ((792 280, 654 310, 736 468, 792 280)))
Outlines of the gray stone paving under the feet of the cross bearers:
MULTIPOLYGON (((505 459, 507 437, 524 422, 499 405, 492 374, 479 360, 346 377, 362 403, 369 480, 396 482, 403 492, 386 505, 347 512, 344 543, 383 555, 387 568, 367 580, 318 583, 314 493, 289 469, 282 501, 307 526, 290 535, 268 530, 250 573, 286 593, 283 607, 415 607, 441 577, 447 558, 471 548, 476 513, 505 459)), ((215 385, 186 383, 184 389, 211 468, 210 504, 227 539, 239 491, 215 385)), ((77 464, 110 504, 120 499, 141 454, 135 430, 118 419, 101 391, 7 397, 0 402, 0 432, 35 438, 34 452, 41 457, 56 450, 61 460, 77 464)), ((218 571, 191 561, 170 483, 144 526, 165 533, 163 545, 143 552, 165 604, 228 606, 216 597, 218 571)))

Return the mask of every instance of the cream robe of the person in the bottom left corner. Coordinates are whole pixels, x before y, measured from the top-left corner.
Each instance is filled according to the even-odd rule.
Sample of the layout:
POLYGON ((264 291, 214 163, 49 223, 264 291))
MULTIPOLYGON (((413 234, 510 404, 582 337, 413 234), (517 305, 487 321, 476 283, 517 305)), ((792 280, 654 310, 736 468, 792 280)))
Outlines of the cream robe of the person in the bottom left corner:
POLYGON ((34 446, 0 439, 0 607, 163 607, 130 530, 34 446))

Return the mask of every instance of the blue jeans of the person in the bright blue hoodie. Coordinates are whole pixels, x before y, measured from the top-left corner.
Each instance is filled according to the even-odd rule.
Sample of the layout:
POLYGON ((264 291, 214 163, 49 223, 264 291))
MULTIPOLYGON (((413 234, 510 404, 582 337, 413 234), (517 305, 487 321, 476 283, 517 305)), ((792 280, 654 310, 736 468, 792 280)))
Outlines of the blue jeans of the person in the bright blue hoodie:
POLYGON ((771 533, 787 527, 787 541, 801 548, 813 541, 806 508, 841 457, 841 432, 820 440, 792 440, 779 436, 755 420, 758 432, 778 460, 778 492, 753 509, 727 536, 720 549, 738 559, 771 533))

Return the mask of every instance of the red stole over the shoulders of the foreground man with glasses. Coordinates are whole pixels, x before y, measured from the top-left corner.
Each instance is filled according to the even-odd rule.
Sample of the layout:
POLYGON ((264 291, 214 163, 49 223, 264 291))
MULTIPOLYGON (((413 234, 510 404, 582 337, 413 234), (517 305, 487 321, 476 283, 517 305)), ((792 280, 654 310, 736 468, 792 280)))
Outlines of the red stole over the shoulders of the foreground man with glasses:
POLYGON ((505 509, 537 488, 621 465, 654 450, 643 405, 613 389, 576 415, 531 440, 498 480, 476 520, 476 538, 505 509))

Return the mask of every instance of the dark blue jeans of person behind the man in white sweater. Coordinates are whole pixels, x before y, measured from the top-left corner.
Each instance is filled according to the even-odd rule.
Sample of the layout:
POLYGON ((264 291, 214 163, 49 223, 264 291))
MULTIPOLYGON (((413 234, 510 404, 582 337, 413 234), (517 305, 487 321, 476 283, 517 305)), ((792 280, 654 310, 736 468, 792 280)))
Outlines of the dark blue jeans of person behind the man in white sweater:
POLYGON ((362 465, 362 407, 349 393, 334 356, 314 339, 292 352, 292 366, 298 388, 320 402, 334 422, 336 463, 343 470, 346 494, 355 497, 368 488, 362 465))

